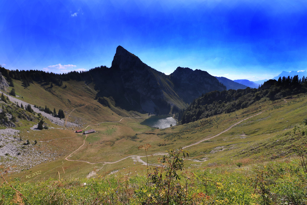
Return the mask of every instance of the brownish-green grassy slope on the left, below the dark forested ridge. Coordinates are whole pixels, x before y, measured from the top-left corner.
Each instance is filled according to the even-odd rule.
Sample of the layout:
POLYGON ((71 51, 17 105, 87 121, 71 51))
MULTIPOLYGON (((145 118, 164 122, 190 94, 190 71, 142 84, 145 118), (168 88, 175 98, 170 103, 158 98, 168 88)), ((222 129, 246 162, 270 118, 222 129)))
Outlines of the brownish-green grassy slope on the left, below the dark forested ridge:
MULTIPOLYGON (((95 100, 96 91, 92 84, 86 85, 82 81, 67 81, 62 86, 40 85, 38 83, 31 84, 25 88, 21 81, 12 79, 17 99, 30 104, 56 110, 63 109, 68 121, 75 120, 80 123, 94 124, 101 121, 118 121, 120 116, 131 116, 125 110, 116 108, 111 99, 110 107, 103 106, 95 100), (66 86, 66 88, 65 88, 66 86), (69 117, 73 112, 72 116, 69 117)), ((9 88, 9 90, 12 87, 9 88)))

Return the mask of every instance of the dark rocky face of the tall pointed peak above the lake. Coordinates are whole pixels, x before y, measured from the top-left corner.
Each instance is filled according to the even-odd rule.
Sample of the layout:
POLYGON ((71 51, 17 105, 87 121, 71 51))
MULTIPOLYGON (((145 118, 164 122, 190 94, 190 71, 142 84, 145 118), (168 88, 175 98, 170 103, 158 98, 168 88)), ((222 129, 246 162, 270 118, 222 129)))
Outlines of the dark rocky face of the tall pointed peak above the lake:
POLYGON ((154 107, 159 107, 158 101, 164 97, 157 75, 164 75, 163 73, 150 68, 122 46, 116 49, 111 70, 118 72, 123 88, 122 97, 133 108, 154 112, 154 107))

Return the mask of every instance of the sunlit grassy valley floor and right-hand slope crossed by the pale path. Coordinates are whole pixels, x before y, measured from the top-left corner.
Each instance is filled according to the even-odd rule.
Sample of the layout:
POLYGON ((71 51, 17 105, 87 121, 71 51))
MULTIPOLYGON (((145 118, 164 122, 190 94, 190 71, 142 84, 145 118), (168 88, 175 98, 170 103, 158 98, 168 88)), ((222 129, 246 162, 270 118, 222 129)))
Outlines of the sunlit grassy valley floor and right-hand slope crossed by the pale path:
MULTIPOLYGON (((96 164, 65 160, 69 154, 83 144, 84 135, 74 134, 69 130, 61 131, 62 134, 59 134, 56 130, 54 132, 48 130, 45 131, 46 134, 48 133, 48 139, 45 136, 44 139, 46 140, 44 141, 55 140, 40 142, 39 144, 41 146, 48 144, 58 149, 65 149, 65 152, 54 161, 37 165, 13 175, 21 177, 30 171, 40 170, 42 174, 39 179, 47 179, 56 174, 57 171, 63 172, 63 168, 65 170, 65 174, 62 174, 63 177, 70 175, 76 177, 78 169, 79 177, 88 176, 93 170, 98 170, 98 173, 106 175, 117 170, 127 173, 131 168, 134 170, 133 173, 142 172, 146 167, 135 157, 128 157, 131 155, 145 156, 145 152, 138 150, 138 146, 146 143, 151 144, 152 148, 147 152, 148 155, 165 153, 167 149, 185 147, 215 136, 240 120, 259 112, 262 113, 244 120, 219 136, 185 148, 190 152, 189 157, 185 160, 186 166, 206 168, 208 166, 233 164, 233 162, 249 164, 263 157, 270 159, 292 156, 291 145, 293 142, 299 141, 297 130, 305 129, 301 122, 306 116, 306 103, 306 95, 293 96, 293 99, 288 99, 287 102, 284 100, 268 101, 264 98, 249 108, 166 129, 153 129, 139 124, 143 118, 127 118, 117 123, 92 125, 87 129, 94 128, 97 132, 89 134, 84 146, 74 152, 68 159, 96 164), (291 131, 293 129, 296 129, 295 133, 291 131), (75 138, 57 140, 57 138, 61 138, 60 136, 75 136, 75 138), (115 162, 124 157, 128 158, 114 164, 104 163, 115 162)), ((28 135, 31 136, 32 133, 35 132, 30 131, 28 135)), ((34 137, 30 139, 34 140, 34 137)), ((146 160, 146 157, 140 159, 146 160)), ((157 157, 150 157, 149 163, 158 164, 157 157)))

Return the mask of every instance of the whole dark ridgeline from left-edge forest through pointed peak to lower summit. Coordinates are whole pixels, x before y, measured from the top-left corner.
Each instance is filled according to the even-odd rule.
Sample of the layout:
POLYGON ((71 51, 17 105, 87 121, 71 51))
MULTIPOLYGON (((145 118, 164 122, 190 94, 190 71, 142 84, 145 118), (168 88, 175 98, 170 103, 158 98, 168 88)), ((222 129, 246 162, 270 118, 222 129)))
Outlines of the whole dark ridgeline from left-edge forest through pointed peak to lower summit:
POLYGON ((12 78, 16 79, 22 81, 24 87, 34 81, 44 86, 50 85, 50 89, 54 85, 65 89, 65 81, 69 80, 93 83, 97 91, 96 100, 104 106, 111 107, 109 103, 112 103, 125 110, 143 113, 174 113, 187 108, 193 99, 203 93, 226 89, 216 77, 202 70, 178 67, 172 74, 165 75, 122 46, 117 47, 111 68, 100 66, 89 71, 64 74, 0 69, 9 82, 12 82, 12 78))

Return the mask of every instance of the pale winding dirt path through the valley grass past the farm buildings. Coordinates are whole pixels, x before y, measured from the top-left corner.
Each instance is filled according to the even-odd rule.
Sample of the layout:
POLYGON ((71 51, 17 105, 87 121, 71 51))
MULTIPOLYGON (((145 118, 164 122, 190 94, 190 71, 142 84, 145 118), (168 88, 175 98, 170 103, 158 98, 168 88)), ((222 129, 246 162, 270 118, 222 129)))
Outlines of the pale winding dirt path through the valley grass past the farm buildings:
MULTIPOLYGON (((266 110, 267 110, 267 109, 266 109, 266 110)), ((266 111, 266 110, 264 110, 264 111, 266 111)), ((264 112, 264 111, 262 111, 262 112, 264 112)), ((241 121, 239 121, 239 122, 237 122, 237 123, 231 125, 229 128, 227 128, 227 129, 225 129, 224 131, 218 133, 217 135, 212 136, 212 137, 209 137, 209 138, 205 138, 205 139, 200 140, 200 141, 198 141, 198 142, 196 142, 196 143, 194 143, 194 144, 190 144, 190 145, 188 145, 188 146, 185 146, 185 147, 183 147, 183 149, 188 148, 188 147, 191 147, 191 146, 196 145, 196 144, 200 144, 200 143, 202 143, 202 142, 204 142, 204 141, 206 141, 206 140, 210 140, 210 139, 212 139, 212 138, 214 138, 214 137, 217 137, 217 136, 219 136, 220 134, 229 131, 229 130, 230 130, 231 128, 233 128, 235 125, 237 125, 237 124, 239 124, 239 123, 243 122, 244 120, 247 120, 247 119, 249 119, 249 118, 251 118, 251 117, 257 116, 257 115, 261 114, 262 112, 259 112, 259 113, 255 114, 255 115, 253 115, 253 116, 249 116, 249 117, 247 117, 247 118, 245 118, 245 119, 243 119, 243 120, 241 120, 241 121)), ((150 115, 149 115, 149 116, 150 116, 150 115)), ((145 116, 145 117, 147 117, 147 116, 145 116)), ((125 118, 141 118, 141 117, 124 117, 124 118, 122 118, 122 119, 125 119, 125 118)), ((120 121, 122 121, 122 119, 119 120, 119 121, 115 121, 115 122, 120 122, 120 121)), ((104 123, 104 122, 100 122, 100 123, 104 123)), ((98 123, 98 124, 100 124, 100 123, 98 123)), ((92 125, 93 125, 93 124, 92 124, 92 125)), ((88 126, 90 126, 90 125, 88 125, 88 126)), ((87 126, 87 127, 88 127, 88 126, 87 126)), ((86 127, 86 128, 87 128, 87 127, 86 127)), ((85 128, 85 129, 86 129, 86 128, 85 128)), ((82 144, 78 149, 76 149, 74 152, 72 152, 70 155, 68 155, 68 156, 65 158, 65 160, 68 160, 68 159, 67 159, 68 157, 70 157, 73 153, 75 153, 75 152, 78 151, 82 146, 84 146, 86 138, 87 138, 87 135, 85 135, 85 138, 84 138, 84 140, 83 140, 83 144, 82 144)), ((152 154, 152 155, 153 155, 153 156, 165 155, 165 153, 155 153, 155 154, 152 154)), ((122 159, 120 159, 120 160, 117 160, 117 161, 115 161, 115 162, 95 162, 95 163, 91 163, 91 162, 83 161, 83 160, 68 160, 68 161, 72 161, 72 162, 85 162, 85 163, 87 163, 87 164, 101 164, 101 163, 104 163, 104 164, 115 164, 115 163, 118 163, 118 162, 120 162, 120 161, 122 161, 122 160, 125 160, 125 159, 127 159, 127 158, 130 158, 130 157, 136 159, 138 162, 141 162, 142 164, 147 165, 146 162, 144 162, 143 160, 141 160, 141 157, 146 157, 146 156, 138 156, 138 155, 126 156, 126 157, 124 157, 124 158, 122 158, 122 159)), ((148 164, 148 165, 153 165, 153 164, 148 164)))

